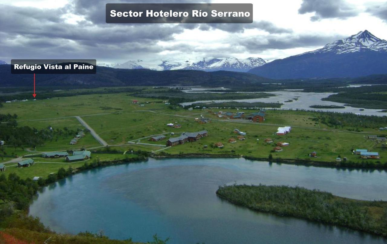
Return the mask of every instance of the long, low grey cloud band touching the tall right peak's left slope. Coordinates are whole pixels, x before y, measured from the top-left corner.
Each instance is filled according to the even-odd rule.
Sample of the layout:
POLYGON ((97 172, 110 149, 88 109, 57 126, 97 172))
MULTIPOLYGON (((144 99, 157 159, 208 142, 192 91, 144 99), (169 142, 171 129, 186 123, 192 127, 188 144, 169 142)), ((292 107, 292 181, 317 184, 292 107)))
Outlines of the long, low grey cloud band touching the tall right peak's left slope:
POLYGON ((242 40, 239 42, 239 44, 241 46, 244 46, 249 51, 260 52, 266 49, 289 49, 323 46, 340 38, 342 38, 342 36, 300 35, 287 36, 282 38, 269 37, 266 39, 260 37, 253 37, 242 40), (262 39, 265 41, 262 42, 262 39))

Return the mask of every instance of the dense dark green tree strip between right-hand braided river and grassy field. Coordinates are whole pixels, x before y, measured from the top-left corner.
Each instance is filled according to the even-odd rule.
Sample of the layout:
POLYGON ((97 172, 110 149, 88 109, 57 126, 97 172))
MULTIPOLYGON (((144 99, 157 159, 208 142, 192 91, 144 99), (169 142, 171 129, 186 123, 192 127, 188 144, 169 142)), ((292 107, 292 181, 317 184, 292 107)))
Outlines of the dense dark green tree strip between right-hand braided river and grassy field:
POLYGON ((328 126, 353 126, 358 128, 380 128, 387 125, 387 116, 356 115, 353 113, 316 113, 314 121, 328 126))

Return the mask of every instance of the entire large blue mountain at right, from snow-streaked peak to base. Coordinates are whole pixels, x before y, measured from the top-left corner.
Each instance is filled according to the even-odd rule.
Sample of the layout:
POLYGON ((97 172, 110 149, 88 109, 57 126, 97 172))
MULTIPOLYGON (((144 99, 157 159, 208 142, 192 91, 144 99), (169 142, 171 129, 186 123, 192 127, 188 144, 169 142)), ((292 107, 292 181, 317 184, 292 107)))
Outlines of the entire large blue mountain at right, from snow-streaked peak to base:
POLYGON ((369 31, 334 41, 323 48, 251 69, 274 79, 360 77, 387 73, 387 41, 369 31))

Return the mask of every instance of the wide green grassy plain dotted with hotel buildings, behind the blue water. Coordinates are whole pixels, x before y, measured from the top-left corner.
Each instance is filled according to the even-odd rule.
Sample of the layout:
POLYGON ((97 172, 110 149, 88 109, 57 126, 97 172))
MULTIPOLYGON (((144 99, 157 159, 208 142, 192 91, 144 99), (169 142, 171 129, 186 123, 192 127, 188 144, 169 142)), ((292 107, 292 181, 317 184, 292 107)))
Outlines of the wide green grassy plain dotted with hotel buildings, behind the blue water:
MULTIPOLYGON (((238 154, 259 158, 268 158, 269 154, 272 154, 273 159, 307 159, 332 162, 332 164, 334 164, 338 155, 359 163, 365 161, 384 162, 387 157, 385 143, 377 143, 366 138, 368 134, 383 135, 383 131, 378 131, 377 128, 356 128, 358 132, 354 132, 349 131, 354 130, 353 126, 332 127, 316 121, 315 118, 319 116, 319 113, 312 111, 267 110, 264 123, 252 123, 248 120, 219 118, 215 114, 217 110, 194 109, 188 111, 181 107, 164 104, 159 99, 134 97, 126 92, 38 99, 36 101, 12 102, 3 105, 0 108, 0 113, 15 113, 18 115, 18 125, 37 129, 51 126, 54 129, 60 128, 62 130, 65 127, 74 131, 85 130, 75 118, 75 116, 81 116, 103 140, 111 147, 119 148, 122 152, 133 148, 134 150, 148 152, 156 151, 156 154, 238 154), (133 104, 132 100, 138 100, 143 106, 133 104), (205 118, 211 118, 212 122, 207 124, 197 123, 195 118, 199 118, 201 115, 205 118), (182 127, 171 128, 166 125, 167 123, 180 124, 182 127), (292 126, 292 130, 288 135, 277 136, 275 132, 278 126, 292 126), (235 128, 246 132, 246 139, 229 143, 229 138, 236 138, 236 134, 232 133, 235 128), (200 130, 207 130, 209 136, 198 142, 188 142, 170 148, 137 144, 165 144, 166 140, 150 142, 149 138, 143 137, 164 134, 168 139, 171 137, 171 132, 178 136, 182 132, 200 130), (274 142, 265 143, 265 138, 272 138, 274 142), (134 143, 128 143, 128 141, 134 143), (212 145, 216 142, 224 143, 224 148, 214 148, 212 145), (290 145, 284 147, 282 152, 272 152, 277 142, 288 142, 290 145), (208 148, 203 148, 204 145, 208 145, 208 148), (377 151, 381 159, 360 159, 358 155, 351 153, 351 150, 356 148, 377 151), (312 151, 317 151, 316 158, 308 156, 312 151)), ((227 111, 236 112, 237 110, 228 109, 227 111)), ((257 110, 240 109, 238 111, 248 114, 257 110)), ((89 132, 86 132, 86 136, 80 138, 76 145, 69 144, 72 137, 72 135, 58 136, 36 148, 14 148, 10 145, 5 145, 3 148, 7 155, 21 156, 56 150, 101 147, 101 144, 89 132)), ((12 158, 0 158, 0 162, 5 163, 10 159, 12 158)), ((39 160, 41 161, 41 159, 39 160)), ((76 163, 74 166, 80 164, 76 163)), ((12 165, 12 163, 8 165, 12 165)), ((55 172, 59 167, 62 166, 60 164, 37 163, 33 167, 25 169, 9 167, 5 174, 17 172, 23 177, 40 176, 55 172), (40 172, 42 173, 39 174, 40 172)))

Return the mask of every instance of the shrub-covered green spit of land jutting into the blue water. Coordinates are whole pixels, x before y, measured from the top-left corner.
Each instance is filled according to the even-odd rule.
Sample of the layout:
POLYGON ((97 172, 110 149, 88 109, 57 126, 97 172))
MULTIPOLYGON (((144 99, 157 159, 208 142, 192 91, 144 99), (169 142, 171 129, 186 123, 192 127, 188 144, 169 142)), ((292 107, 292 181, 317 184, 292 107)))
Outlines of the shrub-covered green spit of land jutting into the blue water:
POLYGON ((236 205, 279 216, 387 236, 387 202, 361 201, 289 186, 221 186, 216 195, 236 205))

